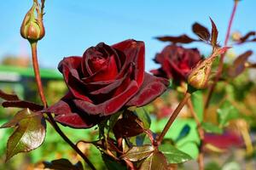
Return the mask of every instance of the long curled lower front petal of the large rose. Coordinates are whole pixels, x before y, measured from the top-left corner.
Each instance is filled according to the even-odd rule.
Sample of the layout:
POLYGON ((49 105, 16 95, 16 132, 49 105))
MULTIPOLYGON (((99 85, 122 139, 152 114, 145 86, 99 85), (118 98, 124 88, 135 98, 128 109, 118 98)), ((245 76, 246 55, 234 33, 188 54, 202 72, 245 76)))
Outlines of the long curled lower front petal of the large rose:
POLYGON ((129 86, 122 94, 114 96, 113 98, 108 99, 102 104, 94 105, 81 99, 74 99, 73 102, 80 110, 87 112, 88 114, 100 114, 102 116, 108 116, 119 111, 119 109, 121 109, 125 105, 125 103, 129 101, 129 99, 131 99, 134 94, 137 93, 137 90, 137 82, 131 81, 129 86))

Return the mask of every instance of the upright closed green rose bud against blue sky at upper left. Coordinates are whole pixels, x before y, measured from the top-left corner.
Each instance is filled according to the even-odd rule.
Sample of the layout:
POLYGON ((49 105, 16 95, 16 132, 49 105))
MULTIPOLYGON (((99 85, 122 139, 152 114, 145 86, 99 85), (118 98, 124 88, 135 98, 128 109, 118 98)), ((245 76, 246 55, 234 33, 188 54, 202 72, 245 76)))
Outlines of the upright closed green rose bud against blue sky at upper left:
POLYGON ((20 35, 30 42, 35 42, 42 39, 44 33, 43 8, 40 11, 38 2, 34 1, 32 8, 26 13, 22 22, 20 35), (37 15, 35 12, 37 12, 37 15))

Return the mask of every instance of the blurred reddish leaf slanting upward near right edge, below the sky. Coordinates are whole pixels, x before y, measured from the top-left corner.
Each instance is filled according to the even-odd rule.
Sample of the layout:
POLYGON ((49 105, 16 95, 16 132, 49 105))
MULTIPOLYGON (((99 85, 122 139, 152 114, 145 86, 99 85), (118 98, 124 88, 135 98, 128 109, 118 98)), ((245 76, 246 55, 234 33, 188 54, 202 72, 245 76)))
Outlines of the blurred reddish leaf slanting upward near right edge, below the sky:
POLYGON ((229 68, 229 76, 230 77, 237 77, 240 75, 246 68, 245 63, 247 62, 247 59, 253 54, 253 51, 248 50, 247 52, 239 55, 233 65, 229 68))

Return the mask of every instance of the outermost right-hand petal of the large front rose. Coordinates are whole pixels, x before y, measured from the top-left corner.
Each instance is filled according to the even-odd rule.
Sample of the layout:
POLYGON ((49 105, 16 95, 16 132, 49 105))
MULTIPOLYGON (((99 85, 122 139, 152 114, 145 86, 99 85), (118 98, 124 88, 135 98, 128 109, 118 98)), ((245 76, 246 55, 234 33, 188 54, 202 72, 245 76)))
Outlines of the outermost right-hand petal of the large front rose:
POLYGON ((145 72, 144 82, 139 92, 126 104, 127 106, 143 106, 164 93, 169 85, 168 80, 154 77, 145 72))

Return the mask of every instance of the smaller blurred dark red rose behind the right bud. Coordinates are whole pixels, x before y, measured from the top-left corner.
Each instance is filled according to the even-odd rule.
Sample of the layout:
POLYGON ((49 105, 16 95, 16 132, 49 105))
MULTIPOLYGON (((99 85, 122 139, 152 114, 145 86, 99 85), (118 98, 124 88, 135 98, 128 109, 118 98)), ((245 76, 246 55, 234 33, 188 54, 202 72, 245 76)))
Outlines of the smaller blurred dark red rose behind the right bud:
POLYGON ((172 78, 175 82, 186 81, 191 69, 201 60, 197 48, 183 48, 168 45, 154 61, 161 65, 160 69, 150 71, 157 77, 172 78))

